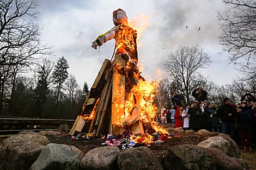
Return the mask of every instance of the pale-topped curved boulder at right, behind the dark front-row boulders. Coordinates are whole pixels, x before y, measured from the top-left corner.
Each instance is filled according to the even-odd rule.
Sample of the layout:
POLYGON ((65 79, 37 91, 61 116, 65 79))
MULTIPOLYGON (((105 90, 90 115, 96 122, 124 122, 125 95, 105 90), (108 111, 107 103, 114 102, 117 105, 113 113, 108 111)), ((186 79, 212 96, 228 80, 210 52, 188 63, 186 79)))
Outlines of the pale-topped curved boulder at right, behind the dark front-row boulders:
POLYGON ((216 148, 229 155, 230 157, 235 157, 235 152, 231 148, 229 141, 225 140, 223 137, 209 137, 207 140, 202 141, 197 144, 199 147, 203 148, 216 148))

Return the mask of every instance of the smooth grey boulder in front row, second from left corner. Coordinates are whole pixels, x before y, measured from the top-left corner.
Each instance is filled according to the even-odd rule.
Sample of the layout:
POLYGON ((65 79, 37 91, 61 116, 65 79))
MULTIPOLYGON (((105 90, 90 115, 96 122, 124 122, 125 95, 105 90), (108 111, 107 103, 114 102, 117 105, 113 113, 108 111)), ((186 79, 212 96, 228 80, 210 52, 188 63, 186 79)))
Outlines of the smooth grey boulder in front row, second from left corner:
POLYGON ((42 148, 31 170, 79 169, 83 152, 74 146, 49 143, 42 148))

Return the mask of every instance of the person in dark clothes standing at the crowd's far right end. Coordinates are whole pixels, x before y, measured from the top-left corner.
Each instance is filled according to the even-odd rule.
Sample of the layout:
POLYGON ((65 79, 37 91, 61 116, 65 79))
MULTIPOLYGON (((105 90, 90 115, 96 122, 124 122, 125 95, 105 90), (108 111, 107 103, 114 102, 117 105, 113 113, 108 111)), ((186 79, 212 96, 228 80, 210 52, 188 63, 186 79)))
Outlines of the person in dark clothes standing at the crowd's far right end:
POLYGON ((252 119, 253 111, 249 108, 248 102, 241 102, 241 106, 237 109, 237 129, 239 130, 243 149, 252 152, 252 119), (247 141, 247 143, 246 143, 247 141))

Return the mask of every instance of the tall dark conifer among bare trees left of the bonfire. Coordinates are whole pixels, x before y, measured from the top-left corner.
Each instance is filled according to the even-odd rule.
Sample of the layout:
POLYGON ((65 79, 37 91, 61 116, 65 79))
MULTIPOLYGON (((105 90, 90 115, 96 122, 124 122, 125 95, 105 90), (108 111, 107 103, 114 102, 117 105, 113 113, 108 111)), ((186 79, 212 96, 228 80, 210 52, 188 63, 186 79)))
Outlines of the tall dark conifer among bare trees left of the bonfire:
POLYGON ((69 64, 68 61, 62 56, 57 61, 57 64, 54 66, 53 70, 53 83, 56 85, 57 96, 56 96, 56 104, 58 105, 60 93, 63 89, 63 83, 69 77, 68 74, 69 64))

